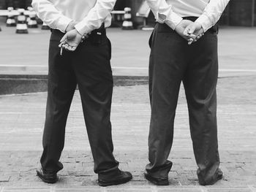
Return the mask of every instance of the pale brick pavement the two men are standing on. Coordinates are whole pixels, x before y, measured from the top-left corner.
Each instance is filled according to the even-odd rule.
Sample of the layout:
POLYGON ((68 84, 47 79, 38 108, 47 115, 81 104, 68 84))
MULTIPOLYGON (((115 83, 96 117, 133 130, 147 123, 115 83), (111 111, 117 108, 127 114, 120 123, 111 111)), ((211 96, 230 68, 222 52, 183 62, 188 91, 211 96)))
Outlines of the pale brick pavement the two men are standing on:
POLYGON ((132 172, 131 182, 101 188, 83 122, 78 91, 72 102, 59 172, 54 185, 36 176, 42 153, 46 93, 0 96, 0 191, 256 191, 256 76, 220 78, 218 84, 219 152, 224 179, 200 186, 189 136, 184 89, 178 101, 170 160, 170 185, 157 187, 143 177, 148 163, 150 106, 148 85, 116 86, 111 120, 114 154, 121 169, 132 172))

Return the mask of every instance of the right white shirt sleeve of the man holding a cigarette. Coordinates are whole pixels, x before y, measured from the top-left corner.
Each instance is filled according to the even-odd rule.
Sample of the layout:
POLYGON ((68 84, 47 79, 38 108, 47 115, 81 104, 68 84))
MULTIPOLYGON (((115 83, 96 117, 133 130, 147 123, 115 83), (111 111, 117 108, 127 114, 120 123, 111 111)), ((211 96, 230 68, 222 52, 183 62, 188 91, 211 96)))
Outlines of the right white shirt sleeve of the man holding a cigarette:
POLYGON ((75 25, 76 30, 83 35, 89 34, 94 29, 102 26, 102 23, 112 11, 115 3, 116 0, 97 0, 88 15, 80 23, 75 25))

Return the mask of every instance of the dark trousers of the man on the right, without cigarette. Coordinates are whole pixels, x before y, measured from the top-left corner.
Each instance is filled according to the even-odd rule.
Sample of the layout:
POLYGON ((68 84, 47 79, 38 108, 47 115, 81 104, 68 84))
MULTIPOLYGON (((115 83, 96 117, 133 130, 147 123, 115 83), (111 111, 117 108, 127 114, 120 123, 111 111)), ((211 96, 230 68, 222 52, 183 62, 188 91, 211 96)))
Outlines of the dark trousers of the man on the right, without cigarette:
POLYGON ((192 45, 166 24, 157 23, 150 40, 149 93, 151 123, 148 137, 153 177, 167 177, 172 163, 167 160, 173 144, 173 122, 178 92, 184 84, 189 126, 200 183, 217 177, 217 31, 209 30, 192 45))

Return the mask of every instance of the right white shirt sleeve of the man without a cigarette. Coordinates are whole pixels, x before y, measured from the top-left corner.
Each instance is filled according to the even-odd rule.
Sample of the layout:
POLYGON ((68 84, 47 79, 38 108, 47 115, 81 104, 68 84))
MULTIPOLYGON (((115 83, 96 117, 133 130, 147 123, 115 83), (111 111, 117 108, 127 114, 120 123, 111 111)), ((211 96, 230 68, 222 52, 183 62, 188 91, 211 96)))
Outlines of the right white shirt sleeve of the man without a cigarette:
POLYGON ((230 0, 211 0, 206 8, 203 10, 203 14, 196 20, 203 27, 203 31, 207 31, 214 26, 222 15, 225 7, 230 0))

